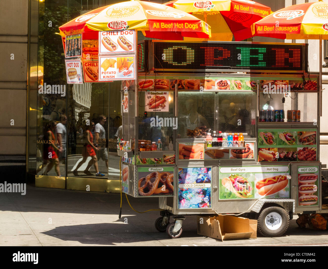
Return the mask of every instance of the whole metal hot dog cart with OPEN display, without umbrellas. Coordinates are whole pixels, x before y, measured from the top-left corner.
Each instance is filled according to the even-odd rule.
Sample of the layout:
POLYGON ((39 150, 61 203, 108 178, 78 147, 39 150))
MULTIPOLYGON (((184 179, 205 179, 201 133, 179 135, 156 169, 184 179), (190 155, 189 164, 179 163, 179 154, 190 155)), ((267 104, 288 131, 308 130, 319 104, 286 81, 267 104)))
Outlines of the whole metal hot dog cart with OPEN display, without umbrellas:
POLYGON ((121 88, 122 191, 158 197, 155 227, 171 237, 185 215, 243 213, 280 236, 293 213, 326 212, 321 93, 307 66, 307 44, 139 43, 138 78, 121 88), (213 131, 243 141, 210 145, 213 131), (162 150, 144 150, 158 139, 162 150))

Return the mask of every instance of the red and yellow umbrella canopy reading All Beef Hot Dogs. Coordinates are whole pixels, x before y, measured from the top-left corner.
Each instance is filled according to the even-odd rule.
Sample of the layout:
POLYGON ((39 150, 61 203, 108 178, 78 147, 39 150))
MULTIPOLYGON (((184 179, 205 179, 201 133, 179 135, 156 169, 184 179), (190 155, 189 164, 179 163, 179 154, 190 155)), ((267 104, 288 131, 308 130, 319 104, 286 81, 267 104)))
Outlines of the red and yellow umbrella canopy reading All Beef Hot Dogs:
MULTIPOLYGON (((59 27, 60 34, 136 29, 147 37, 182 40, 184 36, 210 38, 207 23, 183 11, 165 5, 132 0, 93 11, 59 27)), ((89 38, 91 38, 89 36, 89 38)))

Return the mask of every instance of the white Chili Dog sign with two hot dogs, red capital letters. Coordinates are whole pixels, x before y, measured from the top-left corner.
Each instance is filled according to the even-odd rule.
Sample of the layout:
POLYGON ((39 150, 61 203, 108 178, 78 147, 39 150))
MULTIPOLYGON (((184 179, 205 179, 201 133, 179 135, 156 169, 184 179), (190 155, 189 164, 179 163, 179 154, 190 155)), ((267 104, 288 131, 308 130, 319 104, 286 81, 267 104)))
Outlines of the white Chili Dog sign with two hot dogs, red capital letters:
POLYGON ((135 31, 102 31, 98 35, 99 54, 135 52, 135 31))

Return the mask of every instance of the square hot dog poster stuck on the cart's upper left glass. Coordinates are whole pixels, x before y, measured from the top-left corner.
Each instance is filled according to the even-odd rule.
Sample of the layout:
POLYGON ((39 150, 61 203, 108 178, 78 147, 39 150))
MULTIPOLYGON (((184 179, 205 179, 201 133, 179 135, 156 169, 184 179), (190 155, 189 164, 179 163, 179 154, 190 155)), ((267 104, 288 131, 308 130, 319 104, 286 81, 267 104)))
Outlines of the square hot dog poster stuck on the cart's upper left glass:
POLYGON ((151 91, 145 94, 147 111, 169 112, 169 92, 151 91))

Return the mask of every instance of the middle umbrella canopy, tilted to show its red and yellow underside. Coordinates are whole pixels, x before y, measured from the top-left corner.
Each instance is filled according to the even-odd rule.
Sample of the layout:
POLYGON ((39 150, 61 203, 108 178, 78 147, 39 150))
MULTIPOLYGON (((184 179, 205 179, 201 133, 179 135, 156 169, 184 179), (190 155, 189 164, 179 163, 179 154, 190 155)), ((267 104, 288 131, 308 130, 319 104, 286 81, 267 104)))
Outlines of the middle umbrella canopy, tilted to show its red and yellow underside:
POLYGON ((174 0, 164 5, 192 13, 207 22, 212 27, 209 40, 213 41, 231 41, 233 36, 236 41, 252 37, 251 25, 272 13, 270 7, 250 0, 174 0))

